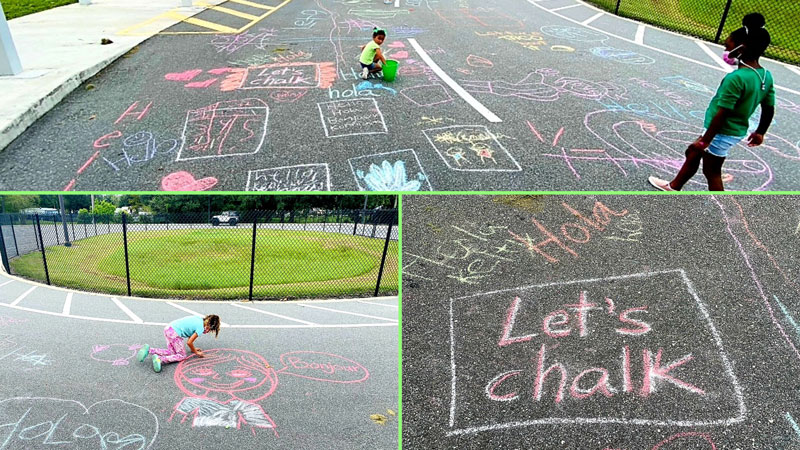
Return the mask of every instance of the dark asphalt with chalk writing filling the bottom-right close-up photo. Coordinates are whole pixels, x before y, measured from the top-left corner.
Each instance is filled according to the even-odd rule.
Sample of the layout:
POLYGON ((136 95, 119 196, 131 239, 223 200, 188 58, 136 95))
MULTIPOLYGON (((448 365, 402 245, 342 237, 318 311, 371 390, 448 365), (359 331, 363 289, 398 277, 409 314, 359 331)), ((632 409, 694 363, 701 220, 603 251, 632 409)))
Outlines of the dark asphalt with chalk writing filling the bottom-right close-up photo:
POLYGON ((412 196, 403 448, 800 448, 800 201, 412 196))

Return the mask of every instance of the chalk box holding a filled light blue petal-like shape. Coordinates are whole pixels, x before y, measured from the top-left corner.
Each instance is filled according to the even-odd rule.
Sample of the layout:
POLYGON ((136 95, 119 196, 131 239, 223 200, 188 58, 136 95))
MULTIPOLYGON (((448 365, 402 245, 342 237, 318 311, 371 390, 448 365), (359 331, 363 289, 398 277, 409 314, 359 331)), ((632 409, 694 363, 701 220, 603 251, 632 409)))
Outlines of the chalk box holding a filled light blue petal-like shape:
POLYGON ((348 162, 360 191, 433 190, 414 150, 358 156, 348 162))

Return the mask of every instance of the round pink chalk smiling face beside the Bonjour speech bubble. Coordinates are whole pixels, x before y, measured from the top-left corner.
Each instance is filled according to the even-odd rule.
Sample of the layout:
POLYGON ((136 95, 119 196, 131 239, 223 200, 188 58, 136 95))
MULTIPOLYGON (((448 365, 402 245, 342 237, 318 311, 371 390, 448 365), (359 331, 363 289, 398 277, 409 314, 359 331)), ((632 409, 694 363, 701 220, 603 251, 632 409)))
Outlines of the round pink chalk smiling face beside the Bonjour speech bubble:
POLYGON ((245 350, 214 349, 181 361, 175 383, 188 396, 258 401, 275 391, 278 377, 267 360, 245 350))

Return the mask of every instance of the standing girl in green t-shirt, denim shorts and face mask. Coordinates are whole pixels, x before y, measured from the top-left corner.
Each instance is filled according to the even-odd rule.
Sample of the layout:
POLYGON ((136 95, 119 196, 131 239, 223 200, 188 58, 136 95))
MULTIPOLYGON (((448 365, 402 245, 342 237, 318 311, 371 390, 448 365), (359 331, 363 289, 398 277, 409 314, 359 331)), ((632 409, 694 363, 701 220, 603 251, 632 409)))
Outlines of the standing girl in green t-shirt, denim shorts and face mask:
POLYGON ((747 138, 747 145, 755 147, 764 142, 772 117, 775 115, 775 86, 772 74, 761 67, 758 58, 770 43, 769 32, 764 29, 764 16, 752 13, 742 19, 742 28, 732 32, 725 40, 722 59, 737 70, 725 75, 716 95, 706 110, 705 133, 686 149, 686 161, 672 181, 650 177, 648 181, 662 191, 679 191, 703 162, 703 175, 710 191, 722 191, 722 163, 728 150, 747 136, 750 116, 761 105, 758 128, 747 138))

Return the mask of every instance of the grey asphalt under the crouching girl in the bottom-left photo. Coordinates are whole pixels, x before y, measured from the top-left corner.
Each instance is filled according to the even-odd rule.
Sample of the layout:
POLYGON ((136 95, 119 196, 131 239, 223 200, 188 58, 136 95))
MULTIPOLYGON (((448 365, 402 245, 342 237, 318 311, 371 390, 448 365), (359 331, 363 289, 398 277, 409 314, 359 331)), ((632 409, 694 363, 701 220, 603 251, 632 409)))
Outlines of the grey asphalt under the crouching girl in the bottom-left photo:
POLYGON ((0 448, 396 448, 397 311, 396 297, 157 301, 0 275, 0 448), (206 358, 136 361, 169 321, 212 313, 206 358))

